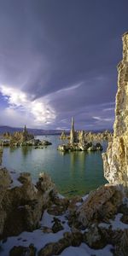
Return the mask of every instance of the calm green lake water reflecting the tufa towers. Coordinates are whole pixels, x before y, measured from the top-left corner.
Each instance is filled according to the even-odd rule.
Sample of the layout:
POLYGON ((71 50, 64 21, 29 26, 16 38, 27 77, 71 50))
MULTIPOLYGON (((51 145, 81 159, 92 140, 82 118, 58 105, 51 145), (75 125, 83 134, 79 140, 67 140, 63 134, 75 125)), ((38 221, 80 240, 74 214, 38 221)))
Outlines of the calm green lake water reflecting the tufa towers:
MULTIPOLYGON (((47 148, 4 148, 3 166, 16 172, 31 172, 32 180, 38 180, 40 172, 52 177, 61 195, 85 195, 90 190, 107 183, 103 177, 101 152, 71 152, 62 154, 56 150, 64 143, 58 136, 38 136, 53 143, 47 148)), ((103 151, 108 143, 102 142, 103 151)))

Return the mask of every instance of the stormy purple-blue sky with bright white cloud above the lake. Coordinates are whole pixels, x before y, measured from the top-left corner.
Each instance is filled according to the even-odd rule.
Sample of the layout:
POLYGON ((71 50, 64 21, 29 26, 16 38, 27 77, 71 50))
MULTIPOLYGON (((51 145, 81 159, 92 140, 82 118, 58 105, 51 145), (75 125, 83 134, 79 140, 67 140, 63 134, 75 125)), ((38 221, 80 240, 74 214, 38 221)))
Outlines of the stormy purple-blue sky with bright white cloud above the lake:
POLYGON ((112 129, 127 0, 0 0, 0 125, 112 129))

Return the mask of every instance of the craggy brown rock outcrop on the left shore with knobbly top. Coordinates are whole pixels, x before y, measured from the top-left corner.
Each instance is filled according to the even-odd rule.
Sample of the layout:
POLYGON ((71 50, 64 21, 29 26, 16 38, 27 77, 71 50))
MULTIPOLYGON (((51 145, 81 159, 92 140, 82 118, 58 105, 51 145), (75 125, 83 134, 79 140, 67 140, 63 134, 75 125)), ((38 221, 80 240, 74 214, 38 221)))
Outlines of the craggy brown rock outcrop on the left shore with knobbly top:
POLYGON ((45 173, 40 175, 36 185, 32 184, 30 173, 21 173, 18 180, 20 185, 12 186, 9 172, 1 167, 0 239, 38 228, 44 209, 56 195, 55 184, 45 173))

